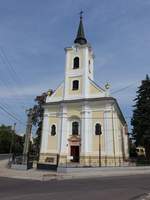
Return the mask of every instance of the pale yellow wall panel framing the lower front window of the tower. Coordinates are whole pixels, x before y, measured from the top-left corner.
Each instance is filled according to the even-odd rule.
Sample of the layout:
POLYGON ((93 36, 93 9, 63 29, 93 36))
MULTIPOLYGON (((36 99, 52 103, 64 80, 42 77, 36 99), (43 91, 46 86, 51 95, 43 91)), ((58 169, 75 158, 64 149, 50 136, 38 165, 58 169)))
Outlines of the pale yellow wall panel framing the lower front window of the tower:
POLYGON ((75 78, 69 78, 69 95, 81 95, 82 94, 82 77, 81 76, 77 76, 75 78), (78 80, 79 81, 79 89, 78 90, 72 90, 72 82, 74 80, 78 80))

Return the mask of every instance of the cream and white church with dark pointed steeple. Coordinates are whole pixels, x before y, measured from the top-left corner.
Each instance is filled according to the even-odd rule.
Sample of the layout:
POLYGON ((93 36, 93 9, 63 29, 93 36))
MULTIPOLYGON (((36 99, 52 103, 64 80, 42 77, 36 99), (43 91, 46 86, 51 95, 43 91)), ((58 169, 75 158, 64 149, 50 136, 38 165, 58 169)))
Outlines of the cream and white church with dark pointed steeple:
POLYGON ((44 105, 39 163, 120 166, 128 159, 128 133, 117 100, 94 81, 94 54, 83 17, 65 48, 64 81, 44 105))

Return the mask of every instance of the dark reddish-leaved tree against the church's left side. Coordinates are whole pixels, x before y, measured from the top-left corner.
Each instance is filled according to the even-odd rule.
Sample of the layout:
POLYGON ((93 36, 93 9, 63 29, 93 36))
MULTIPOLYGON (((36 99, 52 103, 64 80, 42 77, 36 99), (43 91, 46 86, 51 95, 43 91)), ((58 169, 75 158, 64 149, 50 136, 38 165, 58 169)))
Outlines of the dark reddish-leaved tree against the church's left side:
POLYGON ((47 96, 51 96, 52 94, 53 94, 53 90, 49 90, 48 92, 44 92, 40 96, 37 96, 35 98, 36 105, 34 105, 33 107, 32 124, 34 126, 37 126, 37 130, 36 130, 37 137, 34 139, 34 145, 36 147, 38 156, 40 152, 42 124, 43 124, 43 117, 44 117, 43 105, 46 102, 47 96))

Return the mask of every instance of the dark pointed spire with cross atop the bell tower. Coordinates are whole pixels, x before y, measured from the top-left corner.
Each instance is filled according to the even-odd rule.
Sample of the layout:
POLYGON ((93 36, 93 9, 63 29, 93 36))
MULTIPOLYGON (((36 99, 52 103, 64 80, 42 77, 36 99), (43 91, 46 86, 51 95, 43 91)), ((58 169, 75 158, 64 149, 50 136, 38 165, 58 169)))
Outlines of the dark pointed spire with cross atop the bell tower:
POLYGON ((76 39, 74 40, 74 43, 81 44, 81 45, 87 44, 87 40, 86 40, 85 35, 84 35, 84 28, 83 28, 83 23, 82 23, 82 19, 83 19, 82 14, 83 14, 83 11, 80 12, 79 28, 78 28, 76 39))

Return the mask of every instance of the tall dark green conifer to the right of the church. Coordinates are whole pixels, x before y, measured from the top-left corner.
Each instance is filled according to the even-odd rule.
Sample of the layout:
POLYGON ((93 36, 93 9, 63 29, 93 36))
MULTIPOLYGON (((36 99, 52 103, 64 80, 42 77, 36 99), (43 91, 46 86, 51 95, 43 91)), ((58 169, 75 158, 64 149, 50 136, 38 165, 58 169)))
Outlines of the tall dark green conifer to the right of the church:
POLYGON ((150 160, 150 78, 148 75, 136 93, 131 119, 132 136, 136 141, 136 146, 145 147, 146 158, 150 160))

